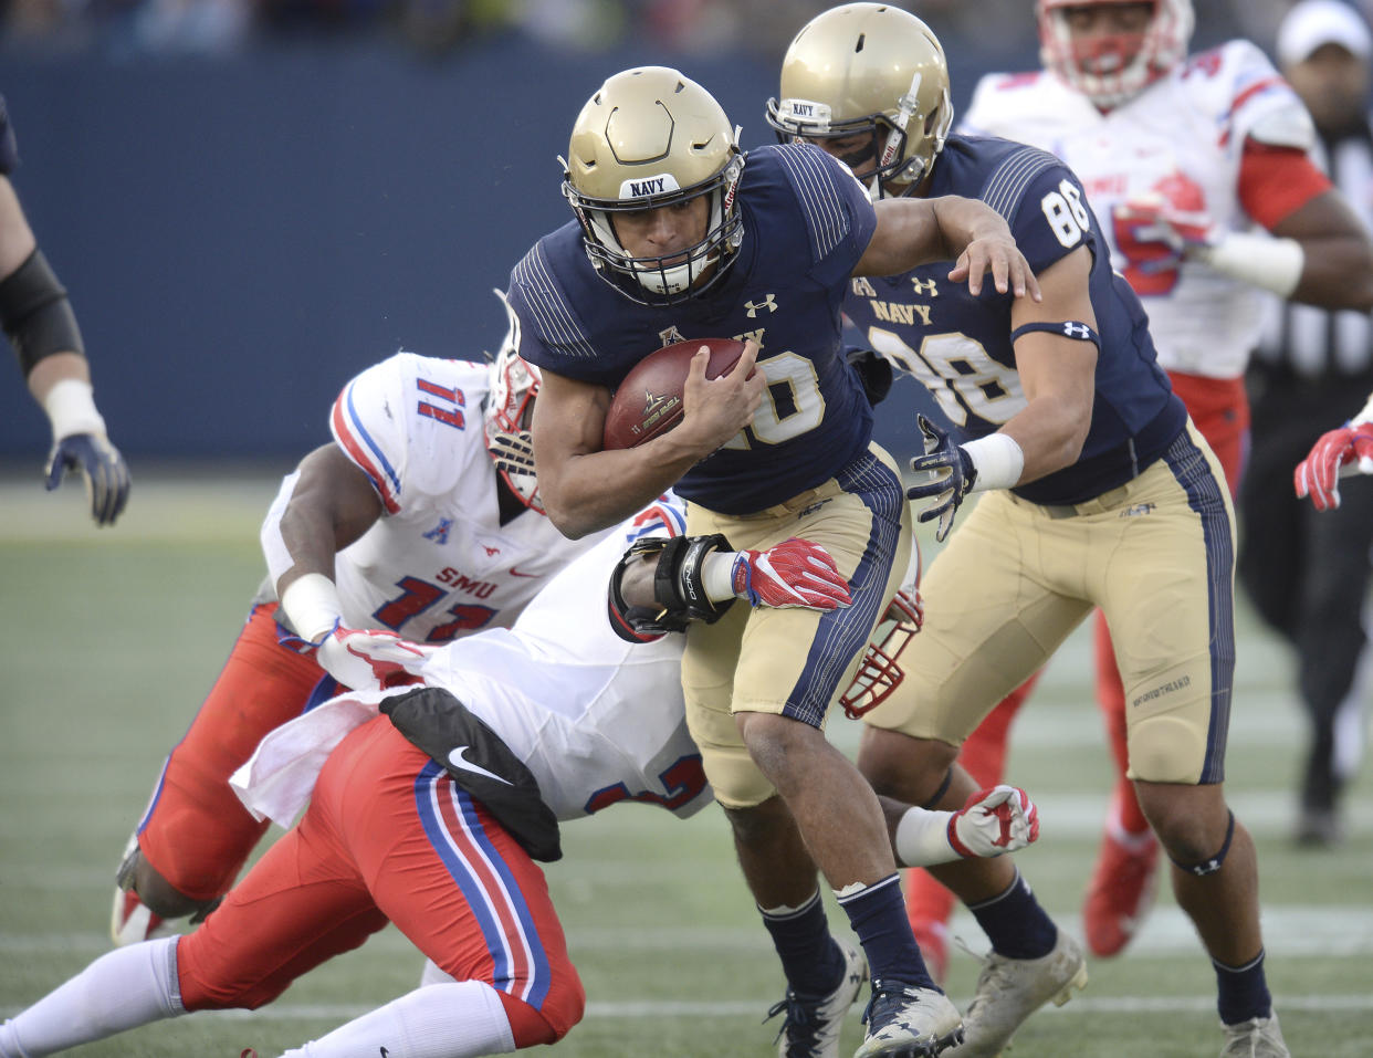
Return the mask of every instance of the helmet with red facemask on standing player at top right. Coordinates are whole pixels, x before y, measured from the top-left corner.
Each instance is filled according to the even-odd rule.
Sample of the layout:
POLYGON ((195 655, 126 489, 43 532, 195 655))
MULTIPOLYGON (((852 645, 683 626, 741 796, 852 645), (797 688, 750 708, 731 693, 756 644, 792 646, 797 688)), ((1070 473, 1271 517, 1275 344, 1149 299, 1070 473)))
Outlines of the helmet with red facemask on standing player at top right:
POLYGON ((1074 38, 1074 10, 1123 5, 1138 7, 1140 0, 1037 0, 1039 60, 1101 110, 1133 99, 1182 62, 1196 22, 1192 0, 1152 0, 1138 33, 1074 38))

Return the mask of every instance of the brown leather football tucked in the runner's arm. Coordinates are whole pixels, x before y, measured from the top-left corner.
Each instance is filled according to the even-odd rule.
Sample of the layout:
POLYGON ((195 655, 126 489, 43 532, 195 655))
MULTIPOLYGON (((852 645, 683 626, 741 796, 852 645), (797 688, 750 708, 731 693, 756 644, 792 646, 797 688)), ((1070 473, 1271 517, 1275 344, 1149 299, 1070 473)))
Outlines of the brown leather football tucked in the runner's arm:
POLYGON ((744 343, 733 338, 695 338, 649 353, 615 390, 605 412, 604 447, 632 449, 662 436, 681 421, 691 358, 702 346, 710 346, 707 379, 726 375, 744 353, 744 343))

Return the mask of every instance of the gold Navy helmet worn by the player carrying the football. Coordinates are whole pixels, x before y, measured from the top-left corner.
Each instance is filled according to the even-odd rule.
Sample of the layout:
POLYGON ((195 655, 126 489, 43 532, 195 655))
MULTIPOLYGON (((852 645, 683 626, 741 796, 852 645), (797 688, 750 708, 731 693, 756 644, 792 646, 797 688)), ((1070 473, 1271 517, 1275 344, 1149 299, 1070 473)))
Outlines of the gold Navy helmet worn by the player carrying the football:
POLYGON ((644 305, 674 305, 719 281, 743 239, 737 133, 710 92, 666 66, 625 70, 600 86, 573 126, 563 193, 601 279, 644 305), (710 220, 685 257, 632 257, 621 246, 615 213, 702 195, 710 196, 710 220))

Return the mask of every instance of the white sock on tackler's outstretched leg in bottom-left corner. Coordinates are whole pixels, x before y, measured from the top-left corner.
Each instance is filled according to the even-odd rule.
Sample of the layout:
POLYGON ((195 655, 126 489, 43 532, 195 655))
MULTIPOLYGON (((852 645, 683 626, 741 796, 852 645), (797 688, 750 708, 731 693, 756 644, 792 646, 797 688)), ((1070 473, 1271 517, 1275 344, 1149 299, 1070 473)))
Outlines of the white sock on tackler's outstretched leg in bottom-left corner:
POLYGON ((0 1025, 0 1058, 41 1058, 184 1014, 176 977, 177 940, 159 937, 102 955, 0 1025))

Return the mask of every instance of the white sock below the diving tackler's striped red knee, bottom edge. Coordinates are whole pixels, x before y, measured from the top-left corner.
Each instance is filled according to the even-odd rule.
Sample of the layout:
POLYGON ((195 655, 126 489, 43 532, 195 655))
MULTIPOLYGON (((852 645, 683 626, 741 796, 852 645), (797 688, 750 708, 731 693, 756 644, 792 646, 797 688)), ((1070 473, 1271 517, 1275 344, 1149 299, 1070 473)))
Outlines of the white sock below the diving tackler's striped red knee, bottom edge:
POLYGON ((515 1050, 505 1007, 485 981, 416 988, 281 1058, 476 1058, 515 1050))

